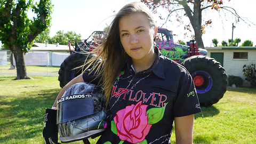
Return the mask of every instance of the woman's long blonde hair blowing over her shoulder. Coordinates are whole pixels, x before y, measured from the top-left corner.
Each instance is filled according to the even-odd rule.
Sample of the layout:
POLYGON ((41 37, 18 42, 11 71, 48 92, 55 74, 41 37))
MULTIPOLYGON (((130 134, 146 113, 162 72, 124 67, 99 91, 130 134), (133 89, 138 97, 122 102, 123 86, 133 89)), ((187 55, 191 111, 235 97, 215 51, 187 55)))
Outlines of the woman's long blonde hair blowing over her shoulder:
MULTIPOLYGON (((106 104, 108 104, 113 89, 113 84, 120 74, 121 68, 124 65, 125 58, 127 57, 126 52, 120 41, 119 36, 119 20, 132 13, 143 13, 148 19, 151 28, 156 27, 156 23, 153 18, 153 13, 149 8, 141 2, 133 2, 126 4, 116 15, 114 20, 111 22, 110 27, 105 34, 103 43, 97 48, 91 51, 91 53, 98 53, 97 57, 90 59, 86 62, 88 67, 92 65, 98 65, 97 78, 103 80, 103 89, 106 95, 106 104), (95 64, 94 61, 100 61, 95 64), (102 69, 100 69, 102 67, 102 69)), ((88 68, 87 67, 87 68, 88 68)))

